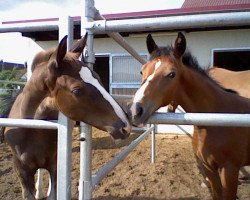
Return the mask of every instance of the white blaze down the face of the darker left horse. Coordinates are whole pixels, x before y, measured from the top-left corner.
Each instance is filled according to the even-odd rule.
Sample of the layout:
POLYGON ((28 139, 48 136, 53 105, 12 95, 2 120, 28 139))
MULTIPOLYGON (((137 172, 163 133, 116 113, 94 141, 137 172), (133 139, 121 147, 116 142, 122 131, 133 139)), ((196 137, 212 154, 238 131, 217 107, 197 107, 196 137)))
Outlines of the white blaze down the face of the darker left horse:
POLYGON ((126 126, 128 126, 129 123, 127 121, 127 118, 123 110, 117 104, 117 102, 110 96, 110 94, 100 85, 99 81, 92 76, 90 69, 87 67, 82 67, 79 74, 85 83, 89 83, 92 86, 94 86, 97 90, 99 90, 103 98, 110 103, 117 116, 125 123, 126 126))

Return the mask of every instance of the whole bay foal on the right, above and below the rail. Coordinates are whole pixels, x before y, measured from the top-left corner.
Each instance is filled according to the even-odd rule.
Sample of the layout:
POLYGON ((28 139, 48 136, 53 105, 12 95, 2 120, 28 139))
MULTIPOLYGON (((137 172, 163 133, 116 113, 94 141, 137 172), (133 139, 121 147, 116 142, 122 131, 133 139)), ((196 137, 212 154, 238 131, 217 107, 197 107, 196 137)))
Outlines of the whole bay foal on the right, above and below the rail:
MULTIPOLYGON (((173 47, 158 47, 148 35, 147 49, 150 60, 142 66, 142 85, 128 111, 133 125, 143 126, 171 102, 187 112, 250 113, 249 99, 222 88, 186 51, 182 33, 173 47)), ((192 146, 213 199, 236 199, 239 169, 250 164, 250 128, 196 126, 192 146)))

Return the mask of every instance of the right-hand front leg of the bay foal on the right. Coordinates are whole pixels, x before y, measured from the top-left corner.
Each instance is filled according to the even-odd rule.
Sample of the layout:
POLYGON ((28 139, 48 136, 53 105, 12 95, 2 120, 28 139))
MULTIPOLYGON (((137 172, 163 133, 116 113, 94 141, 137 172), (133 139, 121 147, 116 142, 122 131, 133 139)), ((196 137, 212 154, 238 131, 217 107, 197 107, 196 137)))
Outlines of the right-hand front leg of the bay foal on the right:
POLYGON ((234 200, 237 198, 239 168, 228 164, 220 170, 223 199, 234 200))

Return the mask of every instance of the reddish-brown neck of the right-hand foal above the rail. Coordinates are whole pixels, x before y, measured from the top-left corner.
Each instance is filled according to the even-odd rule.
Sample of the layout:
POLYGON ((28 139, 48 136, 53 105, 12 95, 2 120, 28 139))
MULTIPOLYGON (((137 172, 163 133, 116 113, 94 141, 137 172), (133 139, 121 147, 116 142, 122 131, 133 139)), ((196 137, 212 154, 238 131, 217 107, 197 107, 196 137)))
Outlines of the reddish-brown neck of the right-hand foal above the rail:
MULTIPOLYGON (((184 73, 178 102, 186 112, 225 112, 232 111, 228 104, 233 102, 233 94, 224 91, 204 75, 188 70, 184 73)), ((236 95, 234 95, 236 96, 236 95)), ((234 98, 234 97, 233 97, 234 98)))

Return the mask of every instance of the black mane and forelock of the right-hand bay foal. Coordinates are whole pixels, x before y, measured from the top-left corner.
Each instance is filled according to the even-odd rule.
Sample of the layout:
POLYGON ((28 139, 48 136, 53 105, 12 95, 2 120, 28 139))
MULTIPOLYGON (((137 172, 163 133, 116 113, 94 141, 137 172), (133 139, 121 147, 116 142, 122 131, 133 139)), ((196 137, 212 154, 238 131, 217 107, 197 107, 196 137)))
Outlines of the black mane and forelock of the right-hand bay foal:
MULTIPOLYGON (((172 57, 173 50, 174 49, 172 46, 159 47, 158 49, 156 49, 155 51, 153 51, 151 53, 150 60, 153 60, 153 59, 161 57, 161 56, 171 56, 172 57)), ((205 78, 209 79, 211 82, 213 82, 214 84, 216 84, 218 87, 222 88, 223 90, 230 92, 230 93, 238 94, 238 92, 236 92, 235 90, 224 88, 218 82, 216 82, 214 79, 212 79, 209 76, 207 70, 200 67, 197 59, 194 56, 192 56, 192 54, 190 53, 189 50, 186 50, 186 52, 182 56, 182 62, 185 66, 187 66, 188 68, 190 68, 192 70, 195 70, 196 72, 198 72, 199 74, 201 74, 205 78)))

